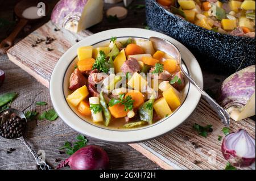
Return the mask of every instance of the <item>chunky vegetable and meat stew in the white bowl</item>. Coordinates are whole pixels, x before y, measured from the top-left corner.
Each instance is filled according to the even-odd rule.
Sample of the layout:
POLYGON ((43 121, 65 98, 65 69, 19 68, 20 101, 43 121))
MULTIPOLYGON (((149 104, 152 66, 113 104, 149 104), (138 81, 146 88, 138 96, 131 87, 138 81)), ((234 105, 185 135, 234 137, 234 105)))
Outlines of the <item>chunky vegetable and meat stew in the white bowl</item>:
POLYGON ((94 124, 115 129, 151 125, 180 105, 184 75, 151 41, 112 37, 102 47, 80 47, 67 102, 94 124))

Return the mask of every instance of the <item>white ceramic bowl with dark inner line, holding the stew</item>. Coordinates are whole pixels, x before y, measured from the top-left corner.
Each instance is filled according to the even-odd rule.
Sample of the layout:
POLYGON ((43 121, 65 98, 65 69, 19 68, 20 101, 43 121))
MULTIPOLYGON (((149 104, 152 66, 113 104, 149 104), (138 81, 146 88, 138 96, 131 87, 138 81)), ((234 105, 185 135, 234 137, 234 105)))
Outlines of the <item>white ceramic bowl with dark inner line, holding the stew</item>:
POLYGON ((109 42, 112 36, 117 37, 118 40, 127 39, 128 37, 133 37, 135 39, 148 39, 151 36, 156 36, 170 41, 176 45, 181 52, 184 62, 182 66, 185 66, 191 77, 195 79, 199 86, 203 87, 203 75, 196 58, 178 41, 169 36, 163 35, 162 33, 138 28, 108 30, 86 37, 84 40, 73 45, 73 47, 64 53, 57 62, 51 75, 49 90, 53 107, 61 119, 63 119, 69 127, 75 129, 77 132, 88 137, 109 142, 130 143, 146 141, 161 136, 162 134, 170 132, 178 127, 195 110, 201 97, 200 93, 190 83, 187 83, 185 86, 183 104, 171 116, 159 120, 155 124, 137 129, 112 129, 101 127, 100 125, 94 125, 91 121, 86 121, 79 112, 68 105, 65 98, 68 95, 69 76, 74 70, 74 66, 76 64, 75 58, 77 57, 77 48, 88 45, 93 45, 94 47, 104 45, 109 42))

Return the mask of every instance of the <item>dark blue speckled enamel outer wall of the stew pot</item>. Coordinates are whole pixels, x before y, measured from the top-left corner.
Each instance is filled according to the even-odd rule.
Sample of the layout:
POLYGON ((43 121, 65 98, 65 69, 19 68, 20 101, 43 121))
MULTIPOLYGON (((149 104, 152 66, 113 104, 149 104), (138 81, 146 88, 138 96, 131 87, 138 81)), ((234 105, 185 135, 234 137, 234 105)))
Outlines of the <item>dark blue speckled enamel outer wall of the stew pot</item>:
POLYGON ((222 35, 172 14, 155 0, 146 0, 147 24, 151 30, 174 37, 187 46, 203 65, 234 72, 255 64, 255 39, 222 35))

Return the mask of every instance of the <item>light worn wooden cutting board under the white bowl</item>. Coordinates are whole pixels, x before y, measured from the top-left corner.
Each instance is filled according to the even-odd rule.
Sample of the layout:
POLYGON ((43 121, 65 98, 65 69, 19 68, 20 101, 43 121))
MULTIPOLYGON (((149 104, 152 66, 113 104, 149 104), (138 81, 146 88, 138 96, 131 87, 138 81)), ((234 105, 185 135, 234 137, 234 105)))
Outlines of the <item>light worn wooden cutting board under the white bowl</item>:
MULTIPOLYGON (((52 22, 48 22, 7 52, 14 64, 34 76, 46 87, 49 87, 52 70, 62 54, 75 44, 76 40, 92 35, 89 31, 75 34, 66 30, 55 31, 55 28, 59 29, 52 22), (53 37, 55 40, 49 45, 42 42, 36 47, 31 46, 36 39, 45 39, 46 36, 53 37), (47 48, 52 50, 48 51, 47 48)), ((224 137, 222 128, 223 125, 216 113, 207 102, 201 100, 195 112, 179 128, 155 140, 130 144, 130 146, 163 169, 224 169, 226 161, 222 157, 221 141, 218 141, 218 136, 224 137), (192 128, 195 123, 212 124, 214 131, 207 138, 201 137, 192 128), (200 163, 196 164, 195 161, 200 163)), ((250 119, 241 122, 232 121, 231 132, 241 128, 246 129, 255 138, 255 121, 250 119)), ((246 169, 255 169, 255 164, 246 169)))

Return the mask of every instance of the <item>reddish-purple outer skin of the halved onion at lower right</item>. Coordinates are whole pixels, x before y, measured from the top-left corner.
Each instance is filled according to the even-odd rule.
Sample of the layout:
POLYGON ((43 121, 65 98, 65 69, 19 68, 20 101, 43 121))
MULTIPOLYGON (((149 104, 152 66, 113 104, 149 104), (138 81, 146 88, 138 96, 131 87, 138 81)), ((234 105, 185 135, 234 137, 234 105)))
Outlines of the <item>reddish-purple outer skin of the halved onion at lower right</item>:
MULTIPOLYGON (((226 136, 222 142, 221 145, 221 151, 224 156, 224 158, 229 161, 229 163, 233 166, 237 167, 249 167, 255 162, 255 155, 254 158, 245 158, 245 157, 239 157, 236 153, 236 150, 231 150, 227 148, 227 139, 232 136, 232 134, 237 134, 239 132, 245 132, 245 134, 248 134, 245 130, 241 129, 238 132, 230 133, 228 136, 226 136)), ((249 136, 249 134, 248 134, 249 136)), ((254 152, 255 152, 255 140, 254 140, 254 152)))

